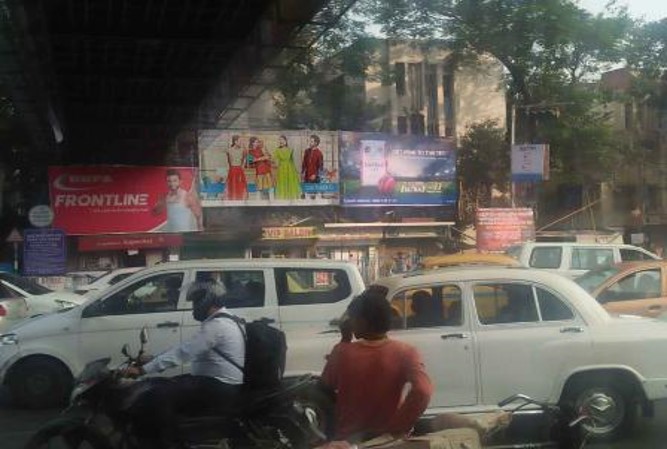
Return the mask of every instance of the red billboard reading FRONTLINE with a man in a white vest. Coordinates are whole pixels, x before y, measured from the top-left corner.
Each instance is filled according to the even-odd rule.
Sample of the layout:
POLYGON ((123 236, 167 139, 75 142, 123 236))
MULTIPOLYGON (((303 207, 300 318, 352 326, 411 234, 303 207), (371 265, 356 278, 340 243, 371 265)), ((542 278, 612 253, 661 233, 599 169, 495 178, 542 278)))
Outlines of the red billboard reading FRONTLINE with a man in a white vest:
POLYGON ((192 167, 49 167, 54 226, 69 235, 202 230, 192 167))

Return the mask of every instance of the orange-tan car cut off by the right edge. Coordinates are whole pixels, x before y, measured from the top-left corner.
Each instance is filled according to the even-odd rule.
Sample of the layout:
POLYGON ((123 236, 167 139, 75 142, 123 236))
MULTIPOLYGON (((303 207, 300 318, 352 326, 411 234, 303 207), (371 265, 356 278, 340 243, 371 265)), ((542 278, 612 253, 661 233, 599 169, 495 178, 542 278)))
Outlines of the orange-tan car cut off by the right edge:
POLYGON ((579 276, 607 311, 657 317, 667 311, 667 261, 623 262, 579 276))

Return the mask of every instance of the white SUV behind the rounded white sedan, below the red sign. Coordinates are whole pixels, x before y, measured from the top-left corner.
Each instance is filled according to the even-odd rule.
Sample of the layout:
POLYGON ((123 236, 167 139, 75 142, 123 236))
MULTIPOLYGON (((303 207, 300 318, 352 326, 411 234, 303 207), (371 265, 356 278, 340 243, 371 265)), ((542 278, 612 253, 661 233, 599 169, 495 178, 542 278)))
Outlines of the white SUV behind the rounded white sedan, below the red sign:
POLYGON ((600 267, 635 260, 660 260, 644 248, 617 243, 526 242, 506 253, 521 265, 576 278, 600 267))

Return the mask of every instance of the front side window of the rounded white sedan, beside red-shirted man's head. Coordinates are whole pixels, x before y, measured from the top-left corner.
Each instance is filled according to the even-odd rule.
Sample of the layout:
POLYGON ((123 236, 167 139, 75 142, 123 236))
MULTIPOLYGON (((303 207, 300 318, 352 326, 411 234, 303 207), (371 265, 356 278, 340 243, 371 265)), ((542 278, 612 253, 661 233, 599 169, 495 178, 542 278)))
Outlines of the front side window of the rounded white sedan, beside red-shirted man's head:
POLYGON ((460 326, 463 324, 461 289, 456 285, 403 290, 391 300, 394 329, 460 326))

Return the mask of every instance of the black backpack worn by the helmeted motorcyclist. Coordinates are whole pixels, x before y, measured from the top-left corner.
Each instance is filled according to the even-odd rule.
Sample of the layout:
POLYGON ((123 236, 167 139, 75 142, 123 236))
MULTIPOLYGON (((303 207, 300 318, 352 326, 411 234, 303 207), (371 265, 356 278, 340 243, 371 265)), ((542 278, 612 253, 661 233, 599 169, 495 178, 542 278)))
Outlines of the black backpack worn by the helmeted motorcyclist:
POLYGON ((285 360, 287 358, 285 333, 269 326, 266 320, 246 323, 243 318, 226 313, 217 314, 215 317, 229 318, 243 332, 246 343, 245 366, 243 368, 227 354, 213 348, 219 356, 243 371, 243 386, 252 390, 279 386, 285 372, 285 360))

